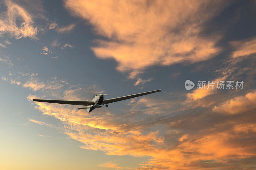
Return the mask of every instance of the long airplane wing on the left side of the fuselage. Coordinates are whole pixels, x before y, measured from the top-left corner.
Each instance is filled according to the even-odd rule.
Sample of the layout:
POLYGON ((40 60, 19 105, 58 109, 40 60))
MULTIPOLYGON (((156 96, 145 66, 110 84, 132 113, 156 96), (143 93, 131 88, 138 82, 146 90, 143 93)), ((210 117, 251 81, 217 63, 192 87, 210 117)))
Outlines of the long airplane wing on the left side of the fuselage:
POLYGON ((92 100, 48 100, 48 99, 33 99, 33 101, 40 101, 46 103, 60 103, 60 104, 68 104, 68 105, 94 105, 94 101, 92 100))

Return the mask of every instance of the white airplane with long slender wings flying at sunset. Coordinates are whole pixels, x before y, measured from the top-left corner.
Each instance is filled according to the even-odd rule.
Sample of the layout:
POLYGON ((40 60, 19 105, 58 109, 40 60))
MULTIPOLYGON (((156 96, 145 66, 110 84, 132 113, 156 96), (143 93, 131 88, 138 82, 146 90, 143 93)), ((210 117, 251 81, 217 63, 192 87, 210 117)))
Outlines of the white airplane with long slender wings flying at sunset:
POLYGON ((162 89, 159 90, 153 90, 149 92, 143 92, 143 93, 137 93, 137 94, 132 94, 128 96, 122 96, 122 97, 116 97, 116 98, 111 98, 104 100, 104 95, 108 94, 95 94, 93 96, 92 100, 48 100, 48 99, 33 99, 32 101, 39 101, 39 102, 47 102, 47 103, 60 103, 60 104, 68 104, 68 105, 82 105, 86 107, 79 107, 78 109, 87 109, 87 112, 91 114, 92 110, 96 108, 102 107, 101 105, 105 105, 108 107, 109 103, 113 103, 116 101, 121 101, 121 100, 126 100, 126 99, 132 99, 134 97, 139 97, 143 96, 146 94, 151 94, 155 92, 161 92, 162 89))

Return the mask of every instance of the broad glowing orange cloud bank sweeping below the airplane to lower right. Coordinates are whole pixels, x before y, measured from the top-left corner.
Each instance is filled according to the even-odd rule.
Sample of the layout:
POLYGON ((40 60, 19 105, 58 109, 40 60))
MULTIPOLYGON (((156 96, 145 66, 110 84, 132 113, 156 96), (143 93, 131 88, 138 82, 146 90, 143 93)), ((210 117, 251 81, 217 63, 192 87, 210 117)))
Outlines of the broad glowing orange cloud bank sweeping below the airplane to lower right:
MULTIPOLYGON (((252 141, 250 141, 251 144, 246 144, 246 147, 239 142, 244 137, 252 137, 255 134, 255 123, 217 123, 212 128, 206 126, 201 131, 196 130, 197 133, 195 134, 184 134, 182 131, 185 129, 182 131, 175 129, 182 129, 179 127, 180 125, 187 127, 186 130, 191 127, 182 121, 186 116, 179 116, 180 123, 170 124, 170 132, 163 135, 159 131, 148 131, 146 122, 141 122, 141 125, 136 123, 132 125, 128 121, 120 121, 131 118, 132 115, 124 118, 123 116, 116 117, 116 115, 114 117, 98 112, 97 115, 93 116, 87 116, 87 114, 79 116, 78 112, 80 111, 73 109, 73 107, 36 104, 43 114, 52 115, 64 122, 66 124, 63 128, 64 133, 70 138, 83 143, 81 146, 83 149, 100 150, 108 155, 130 154, 132 156, 152 157, 148 162, 141 165, 141 169, 204 169, 204 163, 202 162, 204 160, 206 162, 208 160, 213 161, 212 163, 208 162, 205 167, 212 168, 213 165, 217 165, 216 168, 221 168, 227 166, 225 163, 223 164, 225 159, 243 159, 255 156, 253 151, 256 148, 252 141), (229 129, 225 129, 223 126, 228 126, 229 129), (216 128, 222 130, 219 131, 216 128)), ((196 124, 203 120, 195 115, 194 119, 190 119, 187 123, 193 122, 196 124)), ((167 122, 170 121, 172 119, 167 122)), ((39 121, 36 123, 43 124, 39 121)), ((168 125, 166 121, 161 123, 161 126, 166 127, 166 125, 168 125)), ((150 128, 154 127, 151 122, 150 128)), ((113 163, 100 166, 119 167, 113 163)), ((236 166, 230 168, 232 167, 236 166)))

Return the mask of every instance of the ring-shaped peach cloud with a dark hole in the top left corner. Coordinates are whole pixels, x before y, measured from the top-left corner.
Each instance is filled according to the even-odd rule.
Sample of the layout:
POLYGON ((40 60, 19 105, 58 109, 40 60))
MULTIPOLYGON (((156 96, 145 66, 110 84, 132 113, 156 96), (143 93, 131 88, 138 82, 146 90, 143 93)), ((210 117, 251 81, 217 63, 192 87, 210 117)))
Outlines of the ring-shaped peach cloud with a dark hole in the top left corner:
POLYGON ((2 4, 6 5, 7 10, 0 17, 0 33, 8 33, 16 39, 36 38, 37 27, 28 11, 11 1, 2 4))

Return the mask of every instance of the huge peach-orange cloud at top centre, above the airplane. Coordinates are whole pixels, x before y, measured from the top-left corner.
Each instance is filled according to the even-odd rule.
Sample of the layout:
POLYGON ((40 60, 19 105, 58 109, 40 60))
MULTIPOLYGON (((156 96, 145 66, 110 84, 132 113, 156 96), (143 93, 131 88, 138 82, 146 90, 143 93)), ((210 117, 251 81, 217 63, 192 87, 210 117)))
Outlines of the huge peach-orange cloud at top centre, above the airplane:
POLYGON ((152 65, 195 63, 220 53, 221 34, 208 33, 205 24, 218 15, 221 1, 129 1, 92 2, 66 0, 74 16, 86 19, 96 33, 93 47, 101 59, 113 58, 117 70, 141 72, 152 65))

